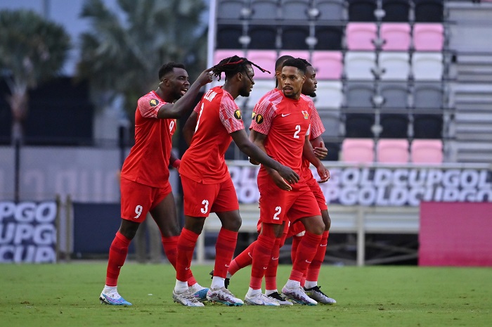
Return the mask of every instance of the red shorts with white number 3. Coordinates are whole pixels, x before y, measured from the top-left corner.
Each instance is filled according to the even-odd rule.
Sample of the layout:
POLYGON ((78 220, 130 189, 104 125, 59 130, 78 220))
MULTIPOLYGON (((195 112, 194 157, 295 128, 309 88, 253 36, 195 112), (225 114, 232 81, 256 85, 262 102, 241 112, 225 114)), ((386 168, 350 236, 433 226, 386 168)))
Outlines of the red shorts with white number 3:
POLYGON ((219 184, 202 184, 181 176, 181 184, 186 216, 208 217, 210 212, 239 210, 238 195, 230 178, 219 184))

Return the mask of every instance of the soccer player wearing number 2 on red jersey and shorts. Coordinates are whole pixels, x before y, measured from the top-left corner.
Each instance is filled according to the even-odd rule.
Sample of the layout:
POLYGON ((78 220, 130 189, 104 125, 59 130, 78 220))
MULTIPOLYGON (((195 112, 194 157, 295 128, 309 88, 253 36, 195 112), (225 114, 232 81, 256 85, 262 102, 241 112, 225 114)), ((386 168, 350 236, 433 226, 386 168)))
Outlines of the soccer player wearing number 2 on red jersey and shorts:
MULTIPOLYGON (((305 73, 306 64, 302 60, 285 60, 280 75, 282 91, 264 97, 255 107, 254 121, 251 125, 252 137, 254 143, 269 156, 293 167, 299 174, 304 155, 313 162, 321 180, 326 181, 329 178, 328 169, 316 158, 309 143, 313 103, 301 96, 302 86, 306 81, 305 73)), ((300 281, 316 253, 325 224, 316 199, 302 177, 289 192, 273 192, 274 186, 279 183, 276 172, 264 166, 260 168, 258 188, 261 232, 252 253, 252 276, 245 302, 279 305, 278 301, 261 293, 261 281, 271 255, 279 248, 285 219, 288 217, 292 223, 297 220, 302 222, 306 235, 299 243, 298 255, 282 292, 295 302, 315 305, 317 302, 304 293, 300 281)))

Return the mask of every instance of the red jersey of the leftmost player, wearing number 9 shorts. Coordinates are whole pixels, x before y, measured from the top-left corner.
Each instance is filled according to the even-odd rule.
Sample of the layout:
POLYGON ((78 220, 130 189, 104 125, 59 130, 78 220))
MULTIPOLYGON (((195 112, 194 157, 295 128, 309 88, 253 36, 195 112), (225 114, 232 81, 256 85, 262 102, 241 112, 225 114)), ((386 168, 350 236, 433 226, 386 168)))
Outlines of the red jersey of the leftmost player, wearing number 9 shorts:
POLYGON ((155 91, 138 99, 135 112, 135 145, 124 160, 121 176, 137 183, 162 187, 169 180, 169 155, 176 120, 159 119, 166 104, 155 91))

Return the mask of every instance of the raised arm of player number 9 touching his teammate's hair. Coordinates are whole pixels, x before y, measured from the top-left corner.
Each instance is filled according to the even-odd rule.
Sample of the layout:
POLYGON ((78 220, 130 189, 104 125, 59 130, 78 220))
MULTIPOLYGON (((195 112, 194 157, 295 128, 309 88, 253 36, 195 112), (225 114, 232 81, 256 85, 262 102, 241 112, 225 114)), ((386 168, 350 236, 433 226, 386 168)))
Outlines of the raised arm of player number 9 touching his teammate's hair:
MULTIPOLYGON (((198 96, 198 92, 201 87, 209 82, 212 82, 212 68, 204 70, 198 79, 191 84, 190 88, 178 99, 175 103, 166 103, 159 108, 157 112, 157 118, 179 118, 186 110, 193 108, 195 98, 198 96)), ((183 77, 184 78, 184 77, 183 77)))

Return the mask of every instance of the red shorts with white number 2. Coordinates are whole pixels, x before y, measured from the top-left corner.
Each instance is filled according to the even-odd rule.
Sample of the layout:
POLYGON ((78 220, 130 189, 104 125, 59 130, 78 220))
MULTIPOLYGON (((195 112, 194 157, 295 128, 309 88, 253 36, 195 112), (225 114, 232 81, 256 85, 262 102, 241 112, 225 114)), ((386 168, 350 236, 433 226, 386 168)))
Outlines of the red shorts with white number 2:
POLYGON ((316 198, 305 182, 295 184, 291 191, 283 191, 269 176, 259 176, 258 189, 261 222, 282 224, 286 217, 295 222, 299 218, 321 215, 316 198))

